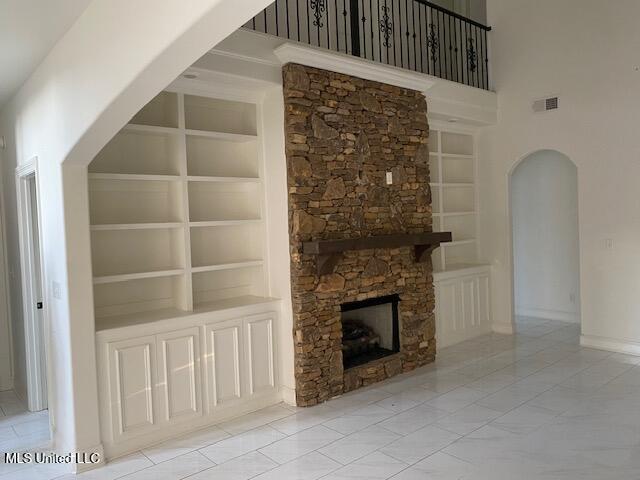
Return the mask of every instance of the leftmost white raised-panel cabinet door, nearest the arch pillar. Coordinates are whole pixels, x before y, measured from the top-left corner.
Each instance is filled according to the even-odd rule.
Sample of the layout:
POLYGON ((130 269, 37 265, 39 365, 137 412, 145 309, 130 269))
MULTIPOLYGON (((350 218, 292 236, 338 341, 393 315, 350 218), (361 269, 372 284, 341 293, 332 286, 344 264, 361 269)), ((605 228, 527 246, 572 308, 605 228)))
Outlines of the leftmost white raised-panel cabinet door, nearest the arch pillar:
POLYGON ((157 426, 155 336, 112 342, 108 355, 113 440, 152 431, 157 426))

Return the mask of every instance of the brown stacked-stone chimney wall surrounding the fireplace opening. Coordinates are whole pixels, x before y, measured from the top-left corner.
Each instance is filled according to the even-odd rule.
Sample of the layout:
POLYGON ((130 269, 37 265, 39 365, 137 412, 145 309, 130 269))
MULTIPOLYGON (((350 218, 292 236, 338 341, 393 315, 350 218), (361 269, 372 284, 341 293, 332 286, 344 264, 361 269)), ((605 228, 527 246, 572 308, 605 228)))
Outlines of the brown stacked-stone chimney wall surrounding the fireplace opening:
POLYGON ((296 395, 307 406, 435 358, 430 261, 411 247, 347 252, 319 278, 302 254, 306 240, 431 231, 429 126, 416 91, 296 64, 283 79, 296 395), (343 371, 340 305, 394 293, 400 353, 343 371))

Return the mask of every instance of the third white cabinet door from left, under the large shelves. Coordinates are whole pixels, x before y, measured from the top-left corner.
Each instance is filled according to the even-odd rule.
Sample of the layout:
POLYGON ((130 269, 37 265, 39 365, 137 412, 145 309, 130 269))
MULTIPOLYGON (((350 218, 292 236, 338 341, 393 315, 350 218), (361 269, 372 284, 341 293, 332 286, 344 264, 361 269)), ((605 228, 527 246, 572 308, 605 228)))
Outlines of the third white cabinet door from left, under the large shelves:
POLYGON ((242 397, 242 319, 207 325, 205 335, 207 408, 211 411, 242 397))

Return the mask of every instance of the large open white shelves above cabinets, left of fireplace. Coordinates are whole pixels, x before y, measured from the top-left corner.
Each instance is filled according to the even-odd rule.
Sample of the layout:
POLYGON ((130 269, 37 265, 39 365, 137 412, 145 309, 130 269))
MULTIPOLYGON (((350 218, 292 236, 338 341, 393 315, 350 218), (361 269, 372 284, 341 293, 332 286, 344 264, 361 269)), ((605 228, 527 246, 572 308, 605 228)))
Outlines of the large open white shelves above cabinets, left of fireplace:
POLYGON ((98 331, 265 297, 258 108, 165 91, 90 164, 98 331))

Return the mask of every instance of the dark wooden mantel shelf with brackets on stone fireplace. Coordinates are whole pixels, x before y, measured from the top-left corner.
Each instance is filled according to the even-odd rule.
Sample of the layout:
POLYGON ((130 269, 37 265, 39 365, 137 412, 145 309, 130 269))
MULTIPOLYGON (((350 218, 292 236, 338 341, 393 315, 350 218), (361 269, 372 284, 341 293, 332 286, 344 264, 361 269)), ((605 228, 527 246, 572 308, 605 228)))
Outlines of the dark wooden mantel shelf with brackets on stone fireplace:
POLYGON ((302 253, 318 256, 318 275, 333 272, 334 267, 348 250, 398 248, 412 246, 416 262, 424 262, 441 243, 451 241, 451 232, 399 233, 344 240, 313 240, 302 243, 302 253))

